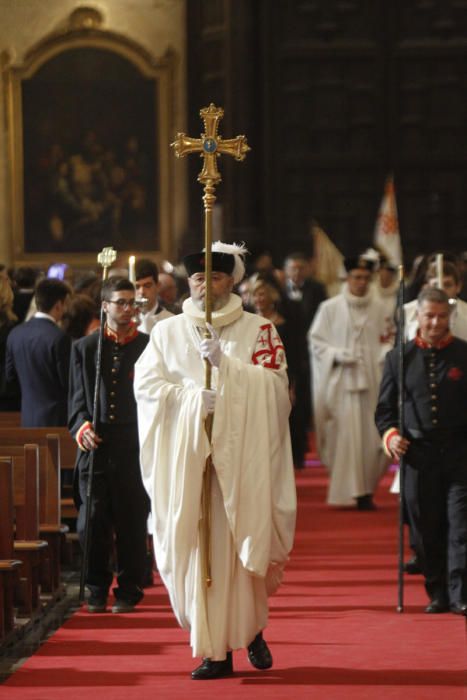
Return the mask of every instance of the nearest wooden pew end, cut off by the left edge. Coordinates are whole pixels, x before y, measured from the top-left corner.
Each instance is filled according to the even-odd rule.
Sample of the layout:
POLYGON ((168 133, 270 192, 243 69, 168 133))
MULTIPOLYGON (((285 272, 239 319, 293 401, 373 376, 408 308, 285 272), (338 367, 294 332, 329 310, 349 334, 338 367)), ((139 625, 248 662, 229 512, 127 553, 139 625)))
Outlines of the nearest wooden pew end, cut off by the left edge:
POLYGON ((0 645, 15 628, 14 590, 21 561, 13 557, 13 464, 0 458, 0 645))

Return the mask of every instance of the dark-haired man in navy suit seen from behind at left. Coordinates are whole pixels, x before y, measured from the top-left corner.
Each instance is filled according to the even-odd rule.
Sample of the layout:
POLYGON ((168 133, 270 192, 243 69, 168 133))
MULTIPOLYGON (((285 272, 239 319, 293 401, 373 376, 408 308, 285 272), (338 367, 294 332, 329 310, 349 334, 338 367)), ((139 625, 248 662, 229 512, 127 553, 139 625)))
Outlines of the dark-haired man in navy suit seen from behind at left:
POLYGON ((21 387, 23 427, 67 424, 71 340, 58 323, 69 295, 61 280, 41 280, 35 291, 36 314, 8 336, 5 375, 21 387))

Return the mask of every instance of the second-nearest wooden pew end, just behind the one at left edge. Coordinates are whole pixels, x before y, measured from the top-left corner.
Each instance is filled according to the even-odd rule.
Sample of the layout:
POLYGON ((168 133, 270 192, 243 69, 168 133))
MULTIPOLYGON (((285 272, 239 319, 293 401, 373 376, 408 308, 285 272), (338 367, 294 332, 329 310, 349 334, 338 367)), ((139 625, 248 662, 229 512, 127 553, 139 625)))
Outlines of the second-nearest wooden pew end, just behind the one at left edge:
POLYGON ((39 448, 24 445, 11 457, 16 534, 13 551, 21 560, 17 589, 18 614, 31 616, 40 608, 40 574, 48 560, 48 545, 39 538, 39 448))

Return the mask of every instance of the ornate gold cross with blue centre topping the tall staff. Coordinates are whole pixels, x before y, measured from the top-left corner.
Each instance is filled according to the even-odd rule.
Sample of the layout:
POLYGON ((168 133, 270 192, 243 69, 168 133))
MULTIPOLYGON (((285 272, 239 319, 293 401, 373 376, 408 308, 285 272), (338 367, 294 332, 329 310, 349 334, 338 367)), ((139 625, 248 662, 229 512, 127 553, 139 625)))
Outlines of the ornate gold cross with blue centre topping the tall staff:
POLYGON ((203 169, 198 175, 199 182, 203 184, 218 184, 221 174, 217 169, 217 157, 222 153, 228 153, 235 160, 244 160, 250 150, 246 142, 246 136, 237 136, 234 139, 223 139, 217 133, 219 121, 224 116, 222 107, 210 104, 200 110, 200 117, 204 121, 204 134, 200 139, 178 133, 177 138, 170 145, 175 149, 177 158, 183 158, 188 153, 199 153, 203 158, 203 169))

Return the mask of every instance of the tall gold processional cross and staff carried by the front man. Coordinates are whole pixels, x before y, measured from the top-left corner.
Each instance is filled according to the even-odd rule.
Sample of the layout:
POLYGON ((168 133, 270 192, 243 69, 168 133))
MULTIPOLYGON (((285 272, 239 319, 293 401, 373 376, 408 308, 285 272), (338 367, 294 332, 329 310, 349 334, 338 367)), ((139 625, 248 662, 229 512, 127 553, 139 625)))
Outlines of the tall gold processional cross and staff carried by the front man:
MULTIPOLYGON (((212 320, 212 213, 216 201, 216 186, 222 177, 217 169, 217 158, 227 153, 235 160, 244 160, 250 150, 245 136, 237 136, 234 139, 223 139, 218 135, 219 121, 224 116, 224 110, 210 104, 200 110, 200 117, 204 122, 204 133, 201 138, 192 138, 184 133, 178 133, 175 141, 170 144, 177 158, 182 158, 189 153, 199 153, 203 158, 203 168, 198 175, 198 182, 204 185, 204 250, 205 250, 205 322, 211 324, 212 320)), ((205 337, 210 338, 206 325, 205 337)), ((211 363, 205 360, 205 388, 211 389, 211 363)), ((214 414, 206 418, 205 429, 211 442, 214 414)), ((203 475, 203 490, 201 496, 201 520, 200 542, 203 552, 203 576, 205 587, 212 583, 211 576, 211 457, 206 460, 203 475)))

